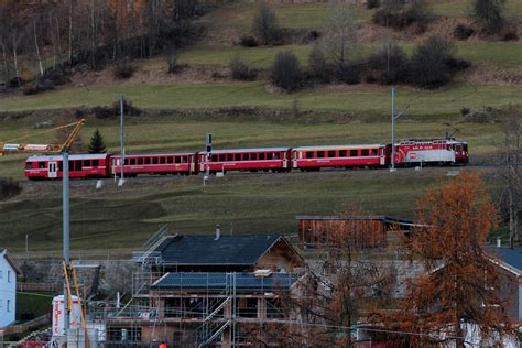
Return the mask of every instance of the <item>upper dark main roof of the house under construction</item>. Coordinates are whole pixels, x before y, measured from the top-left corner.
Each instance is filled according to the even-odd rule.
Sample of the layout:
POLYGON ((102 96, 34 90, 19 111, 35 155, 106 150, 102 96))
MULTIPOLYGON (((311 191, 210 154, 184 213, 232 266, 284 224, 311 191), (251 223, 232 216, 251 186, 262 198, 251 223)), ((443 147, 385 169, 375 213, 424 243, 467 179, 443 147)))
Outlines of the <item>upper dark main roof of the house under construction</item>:
POLYGON ((173 236, 156 249, 163 264, 253 265, 282 239, 279 235, 173 236))

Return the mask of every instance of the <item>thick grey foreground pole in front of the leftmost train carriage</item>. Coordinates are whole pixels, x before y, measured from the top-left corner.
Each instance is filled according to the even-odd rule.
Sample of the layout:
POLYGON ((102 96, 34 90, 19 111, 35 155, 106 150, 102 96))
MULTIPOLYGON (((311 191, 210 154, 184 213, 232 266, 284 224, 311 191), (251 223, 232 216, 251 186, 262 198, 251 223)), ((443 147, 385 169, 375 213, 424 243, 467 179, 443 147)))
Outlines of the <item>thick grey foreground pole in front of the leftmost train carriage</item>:
MULTIPOLYGON (((70 248, 69 248, 69 153, 68 149, 63 152, 62 156, 62 168, 63 168, 63 230, 64 230, 64 262, 65 270, 68 272, 70 264, 70 248)), ((64 274, 64 330, 65 340, 67 340, 67 330, 69 328, 69 301, 67 296, 67 282, 66 274, 64 274)))

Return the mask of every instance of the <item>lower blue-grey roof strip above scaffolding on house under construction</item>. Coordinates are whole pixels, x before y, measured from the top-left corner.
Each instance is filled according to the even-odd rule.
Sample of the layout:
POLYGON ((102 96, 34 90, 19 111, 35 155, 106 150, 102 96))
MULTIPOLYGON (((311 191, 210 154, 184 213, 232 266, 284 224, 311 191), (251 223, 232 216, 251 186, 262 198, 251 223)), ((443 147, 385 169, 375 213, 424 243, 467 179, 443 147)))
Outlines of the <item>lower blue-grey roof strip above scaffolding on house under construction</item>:
POLYGON ((297 275, 293 273, 272 273, 269 276, 255 276, 254 273, 167 273, 152 287, 221 290, 227 285, 235 284, 239 291, 272 291, 274 289, 290 289, 297 279, 297 275))

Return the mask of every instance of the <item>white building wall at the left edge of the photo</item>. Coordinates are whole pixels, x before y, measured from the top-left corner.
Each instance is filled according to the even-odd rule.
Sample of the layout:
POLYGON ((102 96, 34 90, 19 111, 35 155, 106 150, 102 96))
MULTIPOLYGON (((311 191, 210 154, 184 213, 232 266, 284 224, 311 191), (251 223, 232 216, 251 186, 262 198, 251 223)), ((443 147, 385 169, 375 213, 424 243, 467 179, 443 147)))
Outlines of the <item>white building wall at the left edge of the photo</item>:
POLYGON ((8 251, 0 249, 0 327, 14 322, 18 273, 18 269, 8 257, 8 251))

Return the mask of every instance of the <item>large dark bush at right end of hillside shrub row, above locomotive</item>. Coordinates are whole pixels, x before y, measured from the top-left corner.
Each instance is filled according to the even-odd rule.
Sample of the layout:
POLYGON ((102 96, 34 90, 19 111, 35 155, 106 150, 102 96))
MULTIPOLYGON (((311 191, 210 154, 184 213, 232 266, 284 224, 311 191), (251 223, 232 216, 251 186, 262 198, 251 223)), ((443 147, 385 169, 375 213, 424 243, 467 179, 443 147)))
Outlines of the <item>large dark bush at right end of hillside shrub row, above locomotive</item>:
POLYGON ((447 62, 456 46, 441 36, 432 36, 418 45, 410 62, 410 80, 422 88, 437 88, 450 79, 447 62))

